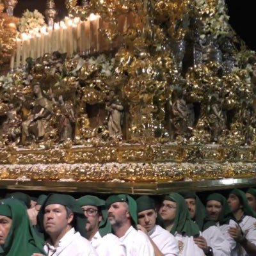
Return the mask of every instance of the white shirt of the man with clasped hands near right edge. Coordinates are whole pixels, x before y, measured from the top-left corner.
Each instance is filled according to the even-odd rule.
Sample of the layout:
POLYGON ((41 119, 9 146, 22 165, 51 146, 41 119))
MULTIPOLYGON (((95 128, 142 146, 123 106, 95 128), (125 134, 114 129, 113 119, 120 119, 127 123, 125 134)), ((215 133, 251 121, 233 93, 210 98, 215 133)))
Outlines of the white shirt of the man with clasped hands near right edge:
MULTIPOLYGON (((243 220, 239 223, 239 226, 243 230, 246 239, 256 245, 256 219, 251 216, 244 216, 243 220)), ((246 253, 244 248, 237 243, 237 246, 232 250, 231 255, 248 256, 248 253, 246 253)))

